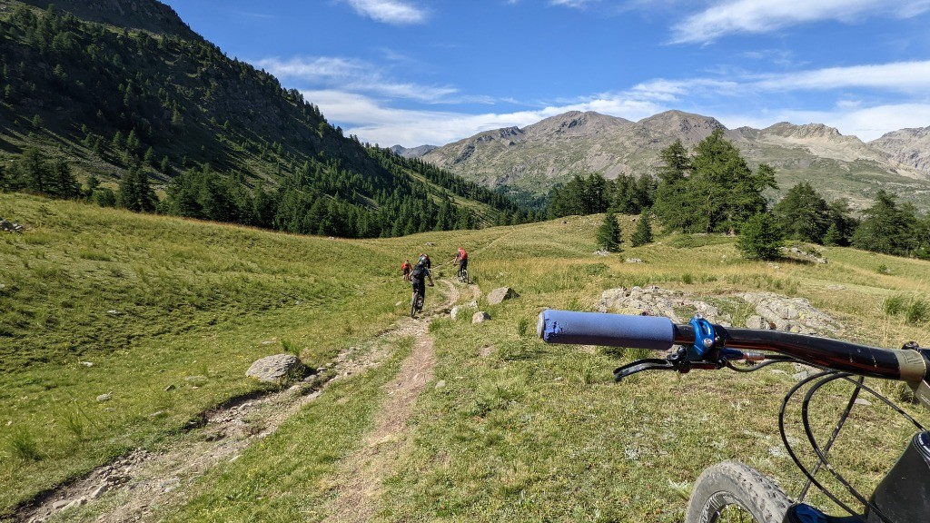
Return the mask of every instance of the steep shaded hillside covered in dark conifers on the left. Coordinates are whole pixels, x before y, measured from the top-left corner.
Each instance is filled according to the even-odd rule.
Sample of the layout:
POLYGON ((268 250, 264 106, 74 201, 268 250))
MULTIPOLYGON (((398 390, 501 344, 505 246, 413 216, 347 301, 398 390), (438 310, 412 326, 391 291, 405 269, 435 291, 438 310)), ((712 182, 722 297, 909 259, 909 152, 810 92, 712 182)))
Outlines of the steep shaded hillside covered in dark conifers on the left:
POLYGON ((474 183, 344 137, 296 89, 179 31, 170 8, 135 4, 159 18, 136 8, 127 26, 165 31, 0 4, 0 188, 349 237, 528 219, 474 183))

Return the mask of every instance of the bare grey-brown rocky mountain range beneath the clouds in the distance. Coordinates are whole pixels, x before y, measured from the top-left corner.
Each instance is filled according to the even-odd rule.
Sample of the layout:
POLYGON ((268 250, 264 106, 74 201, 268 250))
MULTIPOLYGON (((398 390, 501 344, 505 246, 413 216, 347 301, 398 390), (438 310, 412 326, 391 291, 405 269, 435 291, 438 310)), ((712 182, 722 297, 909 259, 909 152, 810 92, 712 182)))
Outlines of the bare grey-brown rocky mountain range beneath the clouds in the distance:
POLYGON ((779 188, 770 199, 809 181, 828 199, 848 198, 854 208, 868 207, 871 196, 884 189, 930 209, 930 127, 898 130, 867 143, 823 124, 727 129, 710 116, 681 111, 637 122, 569 112, 427 147, 419 157, 467 180, 539 195, 576 174, 615 179, 654 173, 663 148, 676 140, 694 146, 718 128, 751 166, 766 163, 776 169, 779 188))

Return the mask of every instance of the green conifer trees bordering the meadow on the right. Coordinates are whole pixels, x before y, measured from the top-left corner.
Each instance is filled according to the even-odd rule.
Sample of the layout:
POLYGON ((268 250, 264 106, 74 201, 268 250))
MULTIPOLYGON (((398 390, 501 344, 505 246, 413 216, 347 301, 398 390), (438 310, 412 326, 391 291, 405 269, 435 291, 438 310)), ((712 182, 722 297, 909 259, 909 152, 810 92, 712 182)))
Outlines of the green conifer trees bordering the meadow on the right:
POLYGON ((654 215, 666 232, 739 234, 737 248, 751 258, 774 258, 786 240, 827 246, 851 246, 897 256, 930 259, 930 216, 879 190, 870 208, 857 218, 844 199, 828 202, 807 182, 791 187, 769 208, 763 192, 777 188, 775 171, 761 164, 752 170, 736 146, 714 131, 692 151, 681 141, 660 152, 658 183, 640 177, 604 181, 600 175, 576 176, 554 189, 551 217, 607 212, 598 231, 602 248, 617 247, 614 212, 654 215))

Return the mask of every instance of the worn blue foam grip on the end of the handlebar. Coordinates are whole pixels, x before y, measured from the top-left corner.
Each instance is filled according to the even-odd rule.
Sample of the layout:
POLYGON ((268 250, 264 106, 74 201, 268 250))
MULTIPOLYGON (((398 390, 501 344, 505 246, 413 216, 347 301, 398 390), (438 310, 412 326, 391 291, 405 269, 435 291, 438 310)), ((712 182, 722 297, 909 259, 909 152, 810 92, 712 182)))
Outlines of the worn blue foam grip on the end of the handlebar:
POLYGON ((537 334, 546 342, 636 347, 657 351, 671 348, 674 324, 661 316, 607 315, 547 309, 539 313, 537 334))

